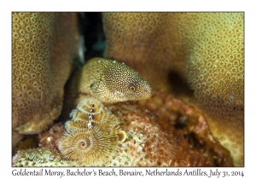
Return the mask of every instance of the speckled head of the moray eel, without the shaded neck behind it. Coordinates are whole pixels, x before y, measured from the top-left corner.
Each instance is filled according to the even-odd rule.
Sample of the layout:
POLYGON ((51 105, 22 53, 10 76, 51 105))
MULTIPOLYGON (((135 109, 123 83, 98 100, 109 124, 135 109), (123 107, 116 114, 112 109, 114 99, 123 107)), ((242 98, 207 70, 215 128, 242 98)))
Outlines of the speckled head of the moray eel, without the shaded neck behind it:
MULTIPOLYGON (((101 66, 101 92, 94 93, 100 101, 114 103, 119 101, 145 100, 151 96, 152 88, 131 67, 118 61, 97 59, 101 66), (103 90, 103 91, 102 91, 103 90), (102 98, 102 94, 104 95, 102 98)), ((99 90, 99 88, 96 88, 99 90)), ((93 90, 93 89, 91 89, 93 90)), ((99 91, 97 91, 99 92, 99 91)))

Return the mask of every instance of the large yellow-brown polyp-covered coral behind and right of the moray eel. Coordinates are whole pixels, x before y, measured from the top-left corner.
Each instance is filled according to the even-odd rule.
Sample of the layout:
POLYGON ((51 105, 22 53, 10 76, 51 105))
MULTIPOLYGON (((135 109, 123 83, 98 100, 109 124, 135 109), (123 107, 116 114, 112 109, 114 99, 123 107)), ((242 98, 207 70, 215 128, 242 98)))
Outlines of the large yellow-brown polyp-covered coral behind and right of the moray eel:
POLYGON ((103 22, 106 56, 198 104, 243 165, 243 13, 104 13, 103 22))

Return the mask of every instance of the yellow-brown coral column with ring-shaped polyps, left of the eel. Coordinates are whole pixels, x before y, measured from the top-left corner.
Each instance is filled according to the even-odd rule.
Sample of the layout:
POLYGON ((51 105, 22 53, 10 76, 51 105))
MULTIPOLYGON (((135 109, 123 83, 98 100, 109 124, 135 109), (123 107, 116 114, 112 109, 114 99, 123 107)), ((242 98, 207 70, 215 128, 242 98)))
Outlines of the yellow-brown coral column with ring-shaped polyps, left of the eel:
POLYGON ((12 27, 12 125, 39 133, 61 113, 79 51, 77 14, 13 13, 12 27))

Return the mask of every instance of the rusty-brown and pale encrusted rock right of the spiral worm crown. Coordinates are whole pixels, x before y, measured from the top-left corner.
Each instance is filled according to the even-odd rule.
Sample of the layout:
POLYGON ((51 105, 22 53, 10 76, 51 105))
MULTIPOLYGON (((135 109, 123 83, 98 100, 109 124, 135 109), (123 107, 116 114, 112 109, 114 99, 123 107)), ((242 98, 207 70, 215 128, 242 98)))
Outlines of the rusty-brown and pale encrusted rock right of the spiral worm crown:
POLYGON ((230 166, 230 153, 212 137, 205 118, 172 95, 109 106, 127 139, 110 164, 119 166, 230 166))

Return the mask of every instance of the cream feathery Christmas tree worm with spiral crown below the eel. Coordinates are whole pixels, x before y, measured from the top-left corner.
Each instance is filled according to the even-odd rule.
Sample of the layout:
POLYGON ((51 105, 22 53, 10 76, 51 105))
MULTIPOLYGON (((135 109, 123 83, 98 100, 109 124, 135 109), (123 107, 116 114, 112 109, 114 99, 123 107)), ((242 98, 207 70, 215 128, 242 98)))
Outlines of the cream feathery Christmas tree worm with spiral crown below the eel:
POLYGON ((86 98, 70 113, 59 149, 77 165, 101 165, 125 141, 116 118, 101 101, 86 98))

